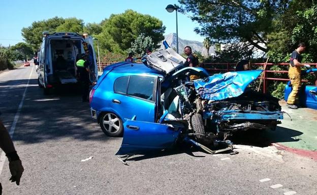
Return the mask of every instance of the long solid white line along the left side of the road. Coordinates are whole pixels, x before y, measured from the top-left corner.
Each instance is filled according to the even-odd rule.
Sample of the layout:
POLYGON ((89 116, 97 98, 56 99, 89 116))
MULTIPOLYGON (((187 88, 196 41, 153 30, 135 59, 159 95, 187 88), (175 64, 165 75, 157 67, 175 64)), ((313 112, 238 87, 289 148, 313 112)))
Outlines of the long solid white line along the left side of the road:
MULTIPOLYGON (((33 68, 34 66, 32 67, 32 70, 28 76, 28 81, 27 81, 27 84, 25 86, 25 89, 24 89, 24 92, 23 92, 23 95, 22 95, 22 99, 21 99, 21 102, 19 104, 19 107, 18 107, 18 110, 14 116, 14 120, 13 120, 13 123, 11 125, 11 128, 9 130, 9 134, 11 136, 11 138, 13 138, 13 133, 14 133, 14 130, 15 130, 15 127, 16 127, 16 124, 19 120, 19 116, 20 116, 20 112, 21 112, 21 109, 22 109, 22 106, 23 106, 23 102, 24 102, 24 99, 25 99, 25 94, 26 94, 26 90, 27 90, 27 87, 28 87, 28 84, 29 84, 29 81, 31 79, 31 75, 33 73, 33 68)), ((1 157, 0 157, 0 176, 1 176, 1 173, 2 173, 2 170, 3 170, 3 166, 5 165, 5 162, 6 162, 6 154, 5 152, 2 152, 1 153, 1 157)))

